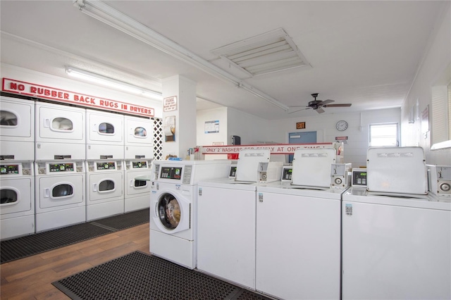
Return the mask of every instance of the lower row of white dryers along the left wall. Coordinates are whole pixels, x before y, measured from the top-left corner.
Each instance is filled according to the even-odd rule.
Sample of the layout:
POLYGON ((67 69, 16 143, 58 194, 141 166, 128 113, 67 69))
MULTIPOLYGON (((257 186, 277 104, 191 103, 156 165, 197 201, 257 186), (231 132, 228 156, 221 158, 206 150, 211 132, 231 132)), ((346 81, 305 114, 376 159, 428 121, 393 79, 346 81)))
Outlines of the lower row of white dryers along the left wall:
POLYGON ((0 163, 1 239, 149 207, 152 160, 0 163), (125 168, 124 168, 125 165, 125 168))

